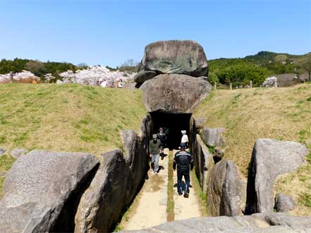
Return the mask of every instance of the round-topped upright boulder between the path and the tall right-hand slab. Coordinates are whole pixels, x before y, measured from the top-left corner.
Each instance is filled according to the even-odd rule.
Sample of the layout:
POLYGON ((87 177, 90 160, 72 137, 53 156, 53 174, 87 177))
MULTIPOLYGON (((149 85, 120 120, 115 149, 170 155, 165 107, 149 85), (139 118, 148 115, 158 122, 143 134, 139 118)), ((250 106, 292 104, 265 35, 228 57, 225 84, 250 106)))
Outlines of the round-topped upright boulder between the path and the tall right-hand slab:
POLYGON ((207 210, 212 216, 243 215, 246 182, 231 160, 214 165, 207 184, 207 210))

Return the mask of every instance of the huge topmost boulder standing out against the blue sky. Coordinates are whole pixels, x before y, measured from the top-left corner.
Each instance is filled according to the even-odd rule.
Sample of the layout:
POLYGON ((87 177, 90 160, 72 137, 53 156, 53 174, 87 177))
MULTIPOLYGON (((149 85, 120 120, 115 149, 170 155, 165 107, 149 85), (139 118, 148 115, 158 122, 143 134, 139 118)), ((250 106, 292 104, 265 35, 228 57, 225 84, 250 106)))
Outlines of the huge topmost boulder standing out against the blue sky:
POLYGON ((140 70, 152 70, 157 74, 183 74, 193 77, 208 75, 205 52, 191 40, 154 42, 145 47, 140 70))

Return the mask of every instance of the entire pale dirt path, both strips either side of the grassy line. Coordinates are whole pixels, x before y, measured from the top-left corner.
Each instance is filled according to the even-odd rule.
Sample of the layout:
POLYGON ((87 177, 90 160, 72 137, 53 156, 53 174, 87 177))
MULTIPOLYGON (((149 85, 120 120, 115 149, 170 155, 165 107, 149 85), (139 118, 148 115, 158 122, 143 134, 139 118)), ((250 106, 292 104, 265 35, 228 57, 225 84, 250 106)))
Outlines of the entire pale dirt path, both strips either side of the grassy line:
MULTIPOLYGON (((169 155, 169 149, 164 153, 169 155)), ((176 151, 171 153, 173 156, 176 151)), ((142 187, 135 208, 127 221, 122 221, 124 230, 144 229, 160 225, 167 221, 166 203, 168 201, 167 189, 169 183, 169 156, 159 160, 159 165, 163 167, 158 175, 154 175, 152 170, 148 171, 149 179, 142 187)), ((200 217, 200 206, 192 187, 190 187, 189 198, 184 198, 177 194, 177 172, 173 172, 173 201, 174 201, 174 220, 200 217)))

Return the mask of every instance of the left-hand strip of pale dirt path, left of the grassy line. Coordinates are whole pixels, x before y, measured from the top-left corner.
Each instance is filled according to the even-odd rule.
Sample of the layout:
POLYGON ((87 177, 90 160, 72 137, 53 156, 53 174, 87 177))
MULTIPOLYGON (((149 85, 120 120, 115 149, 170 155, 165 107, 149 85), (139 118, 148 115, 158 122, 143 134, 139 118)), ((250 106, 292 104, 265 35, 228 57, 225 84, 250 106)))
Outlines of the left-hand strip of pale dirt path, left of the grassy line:
MULTIPOLYGON (((164 150, 164 153, 169 154, 169 150, 164 150)), ((164 169, 158 175, 154 175, 152 170, 148 171, 149 179, 140 191, 137 207, 123 229, 143 229, 166 222, 168 156, 163 160, 160 158, 159 165, 164 169)))

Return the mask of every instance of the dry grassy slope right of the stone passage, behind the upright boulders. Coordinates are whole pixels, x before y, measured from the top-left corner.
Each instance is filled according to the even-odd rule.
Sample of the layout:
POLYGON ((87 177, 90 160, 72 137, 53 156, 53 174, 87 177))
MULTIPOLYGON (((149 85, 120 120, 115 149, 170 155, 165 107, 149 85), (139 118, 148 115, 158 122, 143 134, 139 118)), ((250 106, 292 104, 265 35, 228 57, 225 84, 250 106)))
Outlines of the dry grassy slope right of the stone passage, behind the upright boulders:
MULTIPOLYGON (((195 112, 208 127, 226 127, 226 157, 247 176, 257 138, 299 141, 311 149, 311 84, 270 89, 216 90, 195 112)), ((284 175, 276 191, 294 196, 297 214, 311 214, 311 163, 284 175)))

